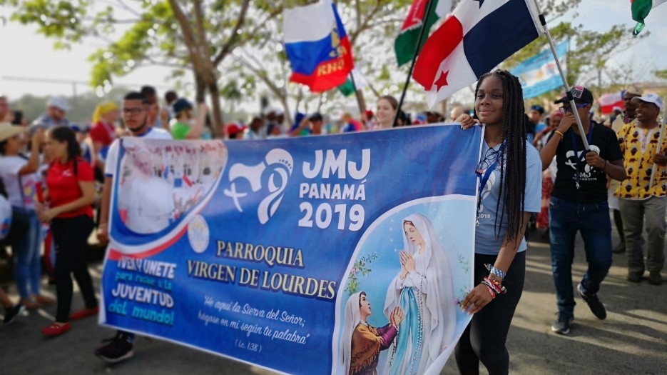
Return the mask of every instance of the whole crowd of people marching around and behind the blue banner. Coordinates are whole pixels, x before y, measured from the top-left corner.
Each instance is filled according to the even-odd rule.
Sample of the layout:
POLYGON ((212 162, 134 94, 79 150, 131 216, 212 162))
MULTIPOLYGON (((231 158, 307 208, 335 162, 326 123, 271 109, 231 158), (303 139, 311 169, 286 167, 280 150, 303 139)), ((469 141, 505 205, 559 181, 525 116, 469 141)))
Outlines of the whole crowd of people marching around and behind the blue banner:
MULTIPOLYGON (((509 354, 505 341, 523 289, 529 226, 545 228, 543 237, 551 245, 558 309, 551 329, 558 334, 568 334, 574 321, 571 265, 577 232, 584 239, 589 268, 576 292, 599 319, 606 318, 598 294, 613 253, 627 253, 628 281, 643 281, 648 270, 648 283, 662 284, 667 209, 667 139, 660 117, 663 101, 636 89, 626 90, 624 101, 625 109, 616 110, 605 121, 596 121, 594 94, 583 86, 574 86, 568 95, 554 101, 550 111, 539 105, 526 108, 519 79, 507 71, 494 71, 479 79, 474 108, 455 106, 448 117, 434 111, 406 114, 393 96, 380 96, 375 111, 365 111, 359 118, 350 113, 337 119, 319 112, 297 113, 289 125, 284 111, 268 107, 248 125, 236 121, 220 131, 225 139, 258 140, 453 121, 462 123, 464 129, 484 125, 482 157, 475 172, 479 182, 475 286, 461 303, 474 317, 455 356, 462 374, 477 373, 480 361, 490 373, 506 374, 509 354), (576 108, 569 99, 574 99, 576 108), (611 217, 621 238, 616 247, 611 244, 611 217)), ((122 103, 99 104, 88 127, 71 124, 66 119, 68 103, 53 98, 46 114, 28 125, 26 119, 9 111, 8 99, 0 96, 0 193, 12 206, 13 223, 6 242, 11 246, 20 296, 18 303, 12 303, 0 289, 6 323, 23 309, 57 303, 56 321, 42 332, 58 336, 71 329, 70 320, 98 314, 83 249, 95 226, 101 243, 108 241, 111 186, 118 171, 121 184, 128 186, 135 179, 141 183, 142 178, 163 177, 165 184, 175 184, 184 175, 195 184, 208 184, 218 176, 218 168, 203 165, 193 167, 194 174, 187 168, 161 169, 151 163, 151 152, 140 152, 132 161, 140 171, 137 176, 128 179, 123 169, 127 166, 118 169, 117 140, 123 136, 192 140, 211 139, 215 134, 205 104, 198 105, 195 113, 195 106, 174 91, 166 93, 164 103, 161 106, 153 87, 144 86, 127 94, 122 103), (44 248, 54 249, 51 278, 57 300, 42 294, 40 288, 46 231, 53 239, 44 248), (72 274, 85 308, 70 314, 72 274)), ((156 152, 171 152, 173 157, 191 159, 189 164, 194 165, 200 151, 153 150, 156 152)), ((175 205, 185 201, 175 201, 175 205)), ((140 204, 136 199, 121 204, 136 228, 144 224, 131 212, 140 204)), ((151 224, 166 226, 159 220, 151 224)), ((110 362, 127 359, 133 355, 133 338, 131 333, 118 331, 96 354, 110 362)))

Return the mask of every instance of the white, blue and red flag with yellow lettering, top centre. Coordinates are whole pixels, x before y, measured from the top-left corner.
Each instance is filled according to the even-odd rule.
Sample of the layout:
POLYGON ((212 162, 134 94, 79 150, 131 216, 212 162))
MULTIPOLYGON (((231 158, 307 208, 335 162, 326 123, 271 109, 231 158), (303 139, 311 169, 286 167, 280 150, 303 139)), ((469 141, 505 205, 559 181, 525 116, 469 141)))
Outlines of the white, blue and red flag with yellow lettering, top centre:
POLYGON ((352 46, 335 4, 317 4, 285 9, 285 51, 292 65, 290 81, 305 84, 312 92, 340 86, 355 63, 352 46))

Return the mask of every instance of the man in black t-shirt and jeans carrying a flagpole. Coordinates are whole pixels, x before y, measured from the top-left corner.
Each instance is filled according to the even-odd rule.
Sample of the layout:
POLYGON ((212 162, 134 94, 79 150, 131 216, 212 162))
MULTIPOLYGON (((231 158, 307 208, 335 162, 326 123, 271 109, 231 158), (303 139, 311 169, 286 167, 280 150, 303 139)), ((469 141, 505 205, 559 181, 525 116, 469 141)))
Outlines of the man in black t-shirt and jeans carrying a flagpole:
POLYGON ((558 165, 549 204, 551 269, 558 306, 551 330, 557 334, 568 334, 574 321, 572 260, 577 231, 584 239, 586 260, 589 262, 589 269, 577 291, 598 319, 606 318, 606 310, 597 292, 609 272, 612 257, 607 176, 618 181, 626 178, 616 134, 590 118, 593 94, 583 86, 572 87, 570 93, 574 96, 576 109, 570 107, 567 96, 556 101, 556 104, 562 104, 564 116, 540 151, 542 170, 549 167, 554 156, 558 165), (573 110, 579 113, 589 150, 584 149, 573 110))

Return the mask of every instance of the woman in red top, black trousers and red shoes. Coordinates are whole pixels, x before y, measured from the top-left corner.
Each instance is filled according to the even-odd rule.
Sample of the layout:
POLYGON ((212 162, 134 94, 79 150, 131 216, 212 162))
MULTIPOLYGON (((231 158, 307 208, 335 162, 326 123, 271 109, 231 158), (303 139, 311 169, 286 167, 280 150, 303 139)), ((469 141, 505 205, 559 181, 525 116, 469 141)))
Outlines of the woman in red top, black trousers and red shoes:
POLYGON ((42 329, 47 336, 69 331, 69 319, 97 314, 98 303, 93 291, 93 281, 88 273, 83 247, 93 229, 95 198, 93 169, 81 159, 81 149, 74 131, 58 126, 46 134, 46 154, 52 160, 46 174, 48 188, 45 199, 49 209, 40 207, 41 221, 51 222, 51 232, 56 244, 56 294, 58 312, 56 321, 42 329), (86 308, 69 315, 72 301, 72 279, 81 289, 86 308))

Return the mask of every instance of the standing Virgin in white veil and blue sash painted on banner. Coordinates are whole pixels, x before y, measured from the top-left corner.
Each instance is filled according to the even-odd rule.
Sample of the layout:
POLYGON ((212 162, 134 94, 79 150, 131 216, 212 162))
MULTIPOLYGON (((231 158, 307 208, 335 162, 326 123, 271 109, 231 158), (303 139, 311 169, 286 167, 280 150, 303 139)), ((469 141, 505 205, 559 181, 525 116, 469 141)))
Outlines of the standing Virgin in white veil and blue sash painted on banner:
MULTIPOLYGON (((402 221, 404 251, 412 254, 414 271, 401 274, 389 284, 385 316, 400 306, 404 319, 397 339, 389 348, 385 374, 423 374, 452 341, 456 328, 456 306, 452 271, 447 254, 437 239, 433 224, 422 214, 402 221), (406 234, 412 223, 422 241, 413 243, 406 234), (424 249, 422 249, 422 243, 424 249)), ((413 235, 413 240, 415 236, 413 235)))

